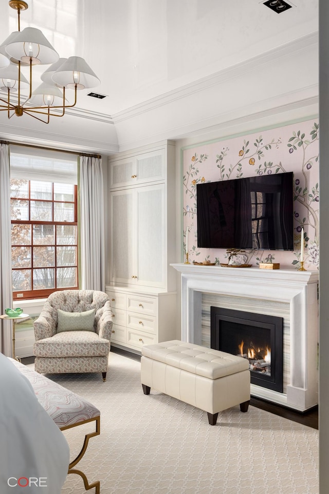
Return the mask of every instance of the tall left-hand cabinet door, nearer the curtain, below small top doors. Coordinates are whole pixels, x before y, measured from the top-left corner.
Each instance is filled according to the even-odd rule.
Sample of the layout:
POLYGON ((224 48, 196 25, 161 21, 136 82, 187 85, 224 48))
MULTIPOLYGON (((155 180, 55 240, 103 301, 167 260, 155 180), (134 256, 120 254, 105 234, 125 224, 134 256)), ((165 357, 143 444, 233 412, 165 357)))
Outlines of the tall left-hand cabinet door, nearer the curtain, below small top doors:
POLYGON ((114 283, 134 284, 136 280, 135 190, 110 193, 111 276, 114 283))

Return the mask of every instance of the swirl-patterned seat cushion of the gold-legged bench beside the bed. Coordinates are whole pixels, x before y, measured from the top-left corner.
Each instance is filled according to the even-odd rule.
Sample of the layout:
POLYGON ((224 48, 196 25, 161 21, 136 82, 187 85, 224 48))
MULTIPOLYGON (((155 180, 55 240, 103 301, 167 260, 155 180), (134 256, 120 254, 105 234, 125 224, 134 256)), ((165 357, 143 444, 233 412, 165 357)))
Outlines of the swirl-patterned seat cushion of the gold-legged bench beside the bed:
POLYGON ((39 403, 59 428, 76 425, 100 415, 100 411, 82 396, 38 374, 17 360, 9 360, 30 381, 39 403))

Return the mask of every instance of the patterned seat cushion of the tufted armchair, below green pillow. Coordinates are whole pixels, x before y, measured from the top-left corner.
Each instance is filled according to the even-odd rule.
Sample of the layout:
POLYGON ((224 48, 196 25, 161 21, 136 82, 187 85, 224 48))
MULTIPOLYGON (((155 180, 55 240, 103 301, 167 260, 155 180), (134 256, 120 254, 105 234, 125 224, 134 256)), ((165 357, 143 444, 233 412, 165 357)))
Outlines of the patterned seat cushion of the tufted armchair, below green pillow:
POLYGON ((93 331, 62 331, 34 343, 35 357, 100 357, 108 355, 109 341, 93 331))

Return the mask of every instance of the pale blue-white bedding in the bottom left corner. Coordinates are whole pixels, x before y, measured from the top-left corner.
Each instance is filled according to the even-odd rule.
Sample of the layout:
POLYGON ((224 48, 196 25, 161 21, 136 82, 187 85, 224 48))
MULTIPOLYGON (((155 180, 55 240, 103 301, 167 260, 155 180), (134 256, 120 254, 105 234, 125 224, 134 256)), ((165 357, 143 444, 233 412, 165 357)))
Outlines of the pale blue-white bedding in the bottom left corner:
POLYGON ((27 378, 0 354, 1 494, 60 494, 68 465, 63 433, 27 378))

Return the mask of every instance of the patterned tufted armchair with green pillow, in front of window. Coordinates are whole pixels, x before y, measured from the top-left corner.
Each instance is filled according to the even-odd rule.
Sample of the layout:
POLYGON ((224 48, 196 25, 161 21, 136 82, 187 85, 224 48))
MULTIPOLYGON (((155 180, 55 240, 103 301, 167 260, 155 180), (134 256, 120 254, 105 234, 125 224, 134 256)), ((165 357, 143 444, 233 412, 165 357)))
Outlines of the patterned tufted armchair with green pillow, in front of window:
POLYGON ((111 302, 104 292, 53 292, 33 323, 35 371, 101 372, 105 381, 112 317, 111 302))

